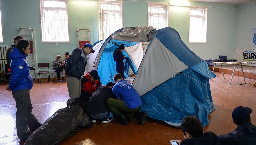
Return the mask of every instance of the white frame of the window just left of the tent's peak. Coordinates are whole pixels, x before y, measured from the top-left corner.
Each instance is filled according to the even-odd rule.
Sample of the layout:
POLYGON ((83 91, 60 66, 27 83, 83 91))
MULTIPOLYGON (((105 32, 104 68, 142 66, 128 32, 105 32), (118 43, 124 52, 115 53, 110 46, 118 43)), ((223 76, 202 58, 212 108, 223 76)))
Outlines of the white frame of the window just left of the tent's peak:
MULTIPOLYGON (((122 26, 117 28, 114 28, 113 32, 115 32, 118 29, 123 28, 123 1, 122 0, 98 0, 98 29, 99 29, 99 40, 106 39, 109 37, 113 32, 108 32, 109 34, 106 34, 104 38, 104 29, 107 29, 104 27, 104 22, 103 22, 103 13, 104 12, 114 12, 114 13, 119 13, 120 19, 122 26), (113 5, 119 5, 120 10, 111 10, 111 9, 103 9, 101 8, 101 4, 106 3, 106 4, 113 4, 113 5)), ((109 20, 108 20, 109 21, 109 20)))

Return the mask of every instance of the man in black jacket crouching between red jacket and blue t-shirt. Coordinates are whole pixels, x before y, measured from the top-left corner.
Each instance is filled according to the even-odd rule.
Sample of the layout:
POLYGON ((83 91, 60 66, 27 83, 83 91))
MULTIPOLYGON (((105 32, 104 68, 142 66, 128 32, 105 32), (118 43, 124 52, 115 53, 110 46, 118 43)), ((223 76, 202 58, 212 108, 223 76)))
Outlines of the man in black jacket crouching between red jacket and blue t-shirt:
POLYGON ((109 110, 105 102, 109 98, 114 98, 114 94, 112 92, 112 87, 114 85, 115 83, 109 82, 105 87, 100 86, 89 100, 86 111, 88 115, 92 117, 93 123, 96 122, 94 119, 103 119, 102 123, 108 123, 113 120, 112 117, 109 117, 109 110))

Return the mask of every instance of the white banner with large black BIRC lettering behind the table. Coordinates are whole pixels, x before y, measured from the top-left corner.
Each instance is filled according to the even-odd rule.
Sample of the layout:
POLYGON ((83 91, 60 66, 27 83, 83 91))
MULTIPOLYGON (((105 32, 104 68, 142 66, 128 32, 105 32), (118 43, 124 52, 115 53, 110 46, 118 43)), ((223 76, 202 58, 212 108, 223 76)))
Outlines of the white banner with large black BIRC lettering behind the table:
POLYGON ((256 67, 256 49, 235 49, 234 59, 241 62, 247 62, 243 65, 256 67))

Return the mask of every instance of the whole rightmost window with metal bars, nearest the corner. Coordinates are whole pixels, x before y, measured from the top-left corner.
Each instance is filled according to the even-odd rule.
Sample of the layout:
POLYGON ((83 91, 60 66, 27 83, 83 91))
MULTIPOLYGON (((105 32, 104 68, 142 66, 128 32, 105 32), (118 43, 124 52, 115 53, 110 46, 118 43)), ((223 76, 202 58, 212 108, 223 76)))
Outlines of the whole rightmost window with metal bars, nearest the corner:
POLYGON ((206 43, 207 7, 190 7, 189 43, 206 43))

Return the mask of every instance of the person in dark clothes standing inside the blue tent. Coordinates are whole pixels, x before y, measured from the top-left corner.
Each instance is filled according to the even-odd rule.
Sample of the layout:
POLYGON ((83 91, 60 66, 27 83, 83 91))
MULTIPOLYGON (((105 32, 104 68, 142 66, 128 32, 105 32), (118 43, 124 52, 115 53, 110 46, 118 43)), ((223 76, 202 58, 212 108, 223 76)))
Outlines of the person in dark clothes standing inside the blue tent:
POLYGON ((124 44, 121 44, 113 53, 114 61, 116 61, 116 71, 121 74, 124 80, 124 62, 125 56, 123 56, 124 44))

